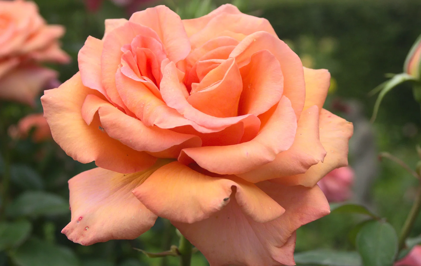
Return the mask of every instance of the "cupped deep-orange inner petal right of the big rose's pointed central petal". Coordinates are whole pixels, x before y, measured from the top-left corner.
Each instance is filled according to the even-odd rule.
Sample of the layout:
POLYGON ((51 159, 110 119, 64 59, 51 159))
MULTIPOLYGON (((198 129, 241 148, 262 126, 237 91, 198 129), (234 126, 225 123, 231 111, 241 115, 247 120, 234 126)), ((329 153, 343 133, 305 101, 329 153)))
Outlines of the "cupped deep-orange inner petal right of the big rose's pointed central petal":
POLYGON ((256 116, 266 112, 282 97, 284 78, 276 57, 268 50, 258 51, 240 69, 242 94, 238 114, 256 116))

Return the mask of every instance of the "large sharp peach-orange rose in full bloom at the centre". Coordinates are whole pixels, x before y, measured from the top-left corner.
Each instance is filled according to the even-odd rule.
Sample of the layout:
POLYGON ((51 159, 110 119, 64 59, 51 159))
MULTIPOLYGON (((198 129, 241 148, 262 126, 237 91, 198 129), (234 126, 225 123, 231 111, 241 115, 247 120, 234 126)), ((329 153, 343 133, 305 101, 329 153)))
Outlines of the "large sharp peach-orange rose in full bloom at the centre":
POLYGON ((294 265, 296 229, 330 212, 317 182, 347 165, 352 124, 322 109, 328 71, 233 5, 105 26, 41 98, 54 140, 99 167, 69 180, 62 232, 133 239, 160 216, 212 266, 294 265))

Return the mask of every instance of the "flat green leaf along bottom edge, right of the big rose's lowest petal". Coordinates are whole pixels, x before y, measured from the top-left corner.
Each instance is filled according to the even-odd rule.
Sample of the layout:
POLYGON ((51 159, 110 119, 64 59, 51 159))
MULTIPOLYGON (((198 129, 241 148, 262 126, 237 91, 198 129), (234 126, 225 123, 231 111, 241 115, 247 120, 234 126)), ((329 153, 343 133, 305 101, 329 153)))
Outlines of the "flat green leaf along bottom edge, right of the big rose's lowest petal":
POLYGON ((361 257, 355 251, 311 250, 294 254, 298 264, 324 266, 361 266, 361 257))

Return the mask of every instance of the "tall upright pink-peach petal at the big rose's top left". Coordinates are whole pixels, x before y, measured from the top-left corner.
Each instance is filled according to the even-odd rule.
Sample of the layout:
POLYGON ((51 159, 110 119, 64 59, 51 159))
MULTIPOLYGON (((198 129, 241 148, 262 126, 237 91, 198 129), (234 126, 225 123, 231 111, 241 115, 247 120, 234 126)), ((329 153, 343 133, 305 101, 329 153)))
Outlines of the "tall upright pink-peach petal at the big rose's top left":
POLYGON ((133 13, 130 21, 155 30, 171 61, 178 62, 189 54, 190 42, 180 16, 165 5, 158 5, 133 13))

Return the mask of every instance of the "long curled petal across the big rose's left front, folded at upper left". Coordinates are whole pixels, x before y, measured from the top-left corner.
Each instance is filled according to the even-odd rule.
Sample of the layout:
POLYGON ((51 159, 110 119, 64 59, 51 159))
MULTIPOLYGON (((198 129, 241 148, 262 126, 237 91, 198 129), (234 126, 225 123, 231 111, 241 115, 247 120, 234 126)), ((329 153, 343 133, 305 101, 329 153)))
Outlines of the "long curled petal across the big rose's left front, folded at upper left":
POLYGON ((142 121, 126 115, 109 102, 90 94, 82 106, 82 117, 88 125, 97 112, 105 132, 133 150, 159 152, 180 145, 171 154, 172 158, 177 158, 181 149, 200 147, 202 144, 200 138, 195 135, 181 134, 157 126, 145 126, 142 121))

